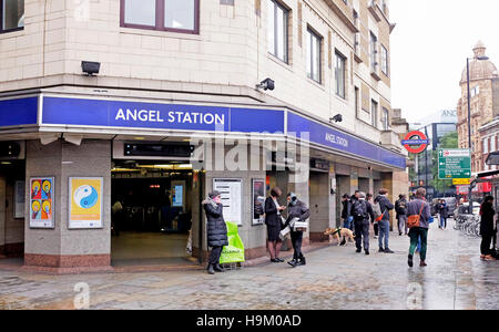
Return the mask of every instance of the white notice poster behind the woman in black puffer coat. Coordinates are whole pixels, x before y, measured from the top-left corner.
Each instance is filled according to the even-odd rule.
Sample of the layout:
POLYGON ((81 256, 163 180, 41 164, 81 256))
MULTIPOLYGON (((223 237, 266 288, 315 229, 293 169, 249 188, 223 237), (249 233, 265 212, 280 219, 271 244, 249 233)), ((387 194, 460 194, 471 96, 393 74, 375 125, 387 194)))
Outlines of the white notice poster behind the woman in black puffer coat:
POLYGON ((222 195, 224 220, 243 225, 243 180, 241 178, 214 178, 213 189, 222 195))

